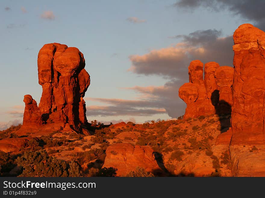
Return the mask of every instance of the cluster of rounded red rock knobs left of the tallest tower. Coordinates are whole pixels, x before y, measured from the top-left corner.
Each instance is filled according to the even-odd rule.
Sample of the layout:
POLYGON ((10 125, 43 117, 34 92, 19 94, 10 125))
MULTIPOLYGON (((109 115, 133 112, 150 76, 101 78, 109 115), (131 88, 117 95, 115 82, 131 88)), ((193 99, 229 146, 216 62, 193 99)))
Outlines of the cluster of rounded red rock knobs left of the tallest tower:
POLYGON ((216 62, 204 65, 199 60, 189 65, 189 83, 179 88, 179 97, 187 104, 184 118, 211 114, 231 114, 233 68, 216 62))

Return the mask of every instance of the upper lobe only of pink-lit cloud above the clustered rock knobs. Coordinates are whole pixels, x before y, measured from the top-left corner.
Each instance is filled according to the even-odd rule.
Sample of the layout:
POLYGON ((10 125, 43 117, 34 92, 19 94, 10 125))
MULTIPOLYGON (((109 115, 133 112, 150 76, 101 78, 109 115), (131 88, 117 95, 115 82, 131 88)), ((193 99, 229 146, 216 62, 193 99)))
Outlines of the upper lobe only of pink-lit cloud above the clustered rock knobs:
POLYGON ((220 37, 220 30, 198 30, 189 35, 176 35, 182 42, 162 49, 154 49, 145 55, 131 55, 128 71, 144 75, 160 75, 186 80, 190 61, 216 61, 232 66, 232 36, 220 37))

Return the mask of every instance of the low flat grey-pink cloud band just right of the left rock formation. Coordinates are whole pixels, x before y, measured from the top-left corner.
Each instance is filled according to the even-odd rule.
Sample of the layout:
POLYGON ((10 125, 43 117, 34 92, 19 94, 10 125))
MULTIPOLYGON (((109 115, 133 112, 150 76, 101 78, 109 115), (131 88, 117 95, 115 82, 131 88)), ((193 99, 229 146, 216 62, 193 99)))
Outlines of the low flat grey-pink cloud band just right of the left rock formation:
POLYGON ((85 100, 97 101, 110 104, 109 106, 87 106, 86 113, 89 116, 150 116, 164 114, 166 110, 160 108, 156 101, 123 100, 105 98, 85 98, 85 100))

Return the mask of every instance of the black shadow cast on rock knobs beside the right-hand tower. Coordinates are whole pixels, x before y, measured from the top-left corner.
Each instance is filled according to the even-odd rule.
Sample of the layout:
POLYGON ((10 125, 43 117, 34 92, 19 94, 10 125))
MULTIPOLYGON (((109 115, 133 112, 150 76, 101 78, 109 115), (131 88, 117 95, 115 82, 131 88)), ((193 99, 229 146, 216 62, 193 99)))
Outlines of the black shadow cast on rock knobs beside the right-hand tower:
POLYGON ((226 132, 231 127, 231 105, 225 100, 220 100, 219 90, 214 90, 211 95, 211 102, 214 105, 215 113, 221 124, 220 132, 226 132))

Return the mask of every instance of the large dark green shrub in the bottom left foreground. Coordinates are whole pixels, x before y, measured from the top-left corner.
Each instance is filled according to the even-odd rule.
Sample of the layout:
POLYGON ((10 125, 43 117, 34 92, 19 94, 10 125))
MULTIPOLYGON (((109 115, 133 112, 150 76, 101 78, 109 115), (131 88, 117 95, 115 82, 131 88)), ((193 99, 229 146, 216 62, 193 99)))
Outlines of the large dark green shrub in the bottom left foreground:
POLYGON ((26 151, 16 162, 23 166, 20 177, 67 177, 71 170, 68 163, 49 156, 45 150, 26 151))

